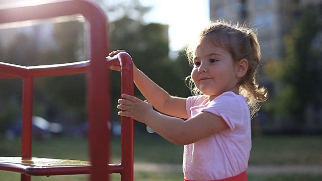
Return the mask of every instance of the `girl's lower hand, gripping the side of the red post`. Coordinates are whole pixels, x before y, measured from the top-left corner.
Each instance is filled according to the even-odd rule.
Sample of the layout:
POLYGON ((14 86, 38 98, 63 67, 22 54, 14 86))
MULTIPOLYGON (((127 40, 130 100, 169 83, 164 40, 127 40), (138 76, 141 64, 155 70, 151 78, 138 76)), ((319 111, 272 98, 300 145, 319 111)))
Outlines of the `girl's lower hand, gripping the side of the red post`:
POLYGON ((145 120, 150 119, 151 114, 155 112, 152 105, 147 101, 141 101, 140 99, 127 94, 122 94, 122 99, 119 99, 118 103, 119 105, 117 105, 117 108, 121 110, 118 112, 118 115, 131 117, 142 123, 144 123, 145 120))

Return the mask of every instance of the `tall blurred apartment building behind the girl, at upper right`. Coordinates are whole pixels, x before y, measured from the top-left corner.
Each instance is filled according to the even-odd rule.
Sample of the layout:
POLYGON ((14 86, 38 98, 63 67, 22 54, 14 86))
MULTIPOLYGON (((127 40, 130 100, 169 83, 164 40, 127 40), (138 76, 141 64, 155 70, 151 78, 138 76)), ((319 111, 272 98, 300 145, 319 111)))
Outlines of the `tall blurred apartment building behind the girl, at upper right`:
MULTIPOLYGON (((285 49, 283 37, 292 28, 293 22, 299 18, 304 8, 314 5, 322 9, 322 0, 209 0, 209 4, 210 19, 236 20, 257 28, 263 63, 268 60, 282 61, 285 49)), ((278 90, 278 87, 273 87, 265 76, 261 75, 260 78, 260 83, 268 87, 269 92, 278 90)), ((258 117, 265 119, 260 113, 258 117)), ((309 127, 312 120, 309 117, 307 119, 305 124, 309 127)), ((263 129, 264 131, 287 129, 287 124, 279 120, 270 120, 270 124, 264 124, 263 129)), ((321 129, 322 124, 319 125, 321 129)))

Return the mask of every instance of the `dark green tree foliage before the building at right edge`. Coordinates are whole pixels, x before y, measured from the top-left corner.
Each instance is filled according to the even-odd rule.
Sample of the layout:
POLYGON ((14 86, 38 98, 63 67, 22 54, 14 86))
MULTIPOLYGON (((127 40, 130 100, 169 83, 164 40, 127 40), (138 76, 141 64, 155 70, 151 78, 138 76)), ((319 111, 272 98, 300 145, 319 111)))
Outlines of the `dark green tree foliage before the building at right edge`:
POLYGON ((278 93, 268 100, 266 108, 274 111, 276 115, 291 116, 303 122, 303 110, 308 104, 322 104, 322 67, 318 66, 322 54, 317 54, 316 48, 312 46, 322 30, 320 19, 321 15, 316 8, 311 7, 304 11, 284 38, 284 59, 269 62, 265 69, 278 89, 278 93))

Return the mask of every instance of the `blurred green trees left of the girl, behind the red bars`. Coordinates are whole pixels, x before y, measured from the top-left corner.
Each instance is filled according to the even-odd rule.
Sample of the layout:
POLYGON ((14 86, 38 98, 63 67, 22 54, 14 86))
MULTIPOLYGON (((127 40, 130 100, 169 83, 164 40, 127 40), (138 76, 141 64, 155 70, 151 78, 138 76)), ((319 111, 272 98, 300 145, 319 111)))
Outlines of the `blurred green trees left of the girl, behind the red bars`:
MULTIPOLYGON (((185 85, 184 77, 190 74, 191 68, 186 57, 182 54, 178 56, 177 60, 169 58, 168 26, 144 23, 142 17, 150 8, 142 7, 140 4, 118 5, 108 10, 109 13, 118 14, 117 18, 109 23, 110 49, 125 49, 133 58, 135 65, 171 95, 189 96, 190 91, 185 85), (123 13, 119 14, 120 12, 123 13)), ((40 28, 37 26, 35 29, 40 28)), ((86 60, 86 55, 82 52, 85 49, 85 33, 82 22, 72 21, 55 24, 53 37, 56 48, 40 51, 37 37, 22 33, 11 44, 6 55, 1 57, 5 58, 5 62, 25 66, 86 60), (7 57, 8 59, 6 59, 7 57)), ((111 84, 111 106, 113 115, 116 115, 118 111, 116 108, 117 99, 120 97, 119 72, 112 72, 111 84)), ((0 85, 2 87, 0 93, 3 93, 0 96, 0 101, 7 103, 9 99, 15 97, 21 99, 21 80, 5 80, 1 81, 0 85)), ((77 118, 71 119, 84 120, 79 119, 78 116, 85 117, 86 115, 86 75, 35 78, 34 85, 34 114, 45 116, 47 108, 55 107, 59 108, 57 111, 62 117, 77 115, 77 118)), ((138 89, 135 89, 135 95, 144 99, 138 89)), ((7 105, 0 105, 0 108, 4 110, 5 106, 7 105)), ((21 106, 21 103, 17 103, 17 106, 21 106)), ((6 107, 6 110, 11 108, 6 107)), ((2 117, 4 119, 12 117, 9 115, 11 112, 15 112, 15 109, 4 112, 8 115, 2 117)), ((114 119, 118 118, 115 116, 114 119)), ((66 123, 69 119, 63 120, 66 123)), ((140 126, 145 129, 143 124, 140 126)))

